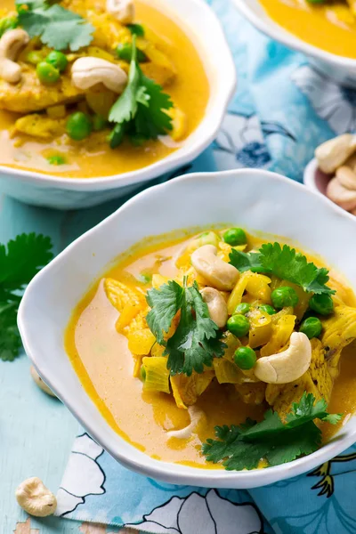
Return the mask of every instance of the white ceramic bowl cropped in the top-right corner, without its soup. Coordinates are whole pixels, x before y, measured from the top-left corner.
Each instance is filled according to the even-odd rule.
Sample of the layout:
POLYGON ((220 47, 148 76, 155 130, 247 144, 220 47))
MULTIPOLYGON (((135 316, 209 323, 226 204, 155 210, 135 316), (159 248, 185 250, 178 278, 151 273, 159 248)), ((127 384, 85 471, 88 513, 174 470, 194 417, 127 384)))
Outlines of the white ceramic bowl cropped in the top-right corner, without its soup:
POLYGON ((305 53, 316 67, 328 77, 344 85, 356 85, 356 60, 329 53, 317 46, 305 43, 271 20, 258 0, 233 0, 239 12, 266 36, 305 53))

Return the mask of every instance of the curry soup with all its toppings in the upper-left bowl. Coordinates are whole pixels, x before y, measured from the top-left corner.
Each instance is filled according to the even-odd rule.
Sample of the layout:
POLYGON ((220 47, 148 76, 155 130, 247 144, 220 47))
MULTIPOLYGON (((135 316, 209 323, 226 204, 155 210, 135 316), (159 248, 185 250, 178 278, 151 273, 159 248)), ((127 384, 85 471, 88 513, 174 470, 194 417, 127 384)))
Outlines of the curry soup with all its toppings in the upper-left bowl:
POLYGON ((184 30, 141 0, 51 4, 1 2, 0 165, 91 178, 181 146, 209 99, 184 30))

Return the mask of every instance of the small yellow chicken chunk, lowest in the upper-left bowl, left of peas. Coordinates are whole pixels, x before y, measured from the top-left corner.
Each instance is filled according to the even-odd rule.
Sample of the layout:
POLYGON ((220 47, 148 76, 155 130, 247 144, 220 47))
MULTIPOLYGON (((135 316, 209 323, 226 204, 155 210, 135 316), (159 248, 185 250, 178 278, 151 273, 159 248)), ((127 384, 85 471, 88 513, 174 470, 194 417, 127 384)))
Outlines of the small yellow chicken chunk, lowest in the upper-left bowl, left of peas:
POLYGON ((53 139, 59 137, 66 131, 65 118, 50 118, 45 115, 33 113, 20 117, 12 127, 11 136, 17 134, 27 134, 39 139, 53 139))

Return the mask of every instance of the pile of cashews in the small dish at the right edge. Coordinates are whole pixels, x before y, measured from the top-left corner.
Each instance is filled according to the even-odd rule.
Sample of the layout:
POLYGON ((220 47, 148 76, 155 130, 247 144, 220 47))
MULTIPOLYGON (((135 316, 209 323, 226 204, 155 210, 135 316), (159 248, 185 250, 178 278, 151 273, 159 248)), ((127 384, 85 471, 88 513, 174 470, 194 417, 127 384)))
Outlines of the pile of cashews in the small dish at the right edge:
POLYGON ((315 150, 320 170, 334 174, 328 182, 327 196, 356 215, 356 135, 343 134, 315 150))

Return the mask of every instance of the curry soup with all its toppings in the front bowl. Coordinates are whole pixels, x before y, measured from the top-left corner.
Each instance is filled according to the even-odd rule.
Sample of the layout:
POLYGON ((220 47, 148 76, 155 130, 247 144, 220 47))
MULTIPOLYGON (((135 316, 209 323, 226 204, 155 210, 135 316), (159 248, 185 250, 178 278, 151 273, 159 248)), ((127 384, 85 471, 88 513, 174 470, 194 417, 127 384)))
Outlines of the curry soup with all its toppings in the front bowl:
POLYGON ((356 408, 350 287, 243 229, 165 239, 123 256, 69 322, 69 358, 102 416, 151 457, 199 467, 318 449, 356 408))

